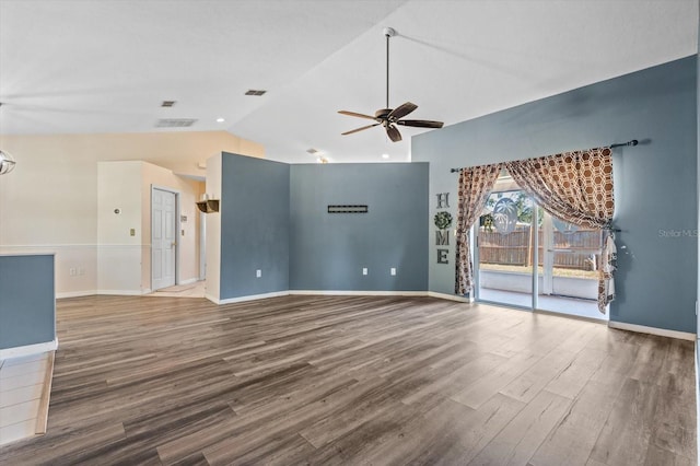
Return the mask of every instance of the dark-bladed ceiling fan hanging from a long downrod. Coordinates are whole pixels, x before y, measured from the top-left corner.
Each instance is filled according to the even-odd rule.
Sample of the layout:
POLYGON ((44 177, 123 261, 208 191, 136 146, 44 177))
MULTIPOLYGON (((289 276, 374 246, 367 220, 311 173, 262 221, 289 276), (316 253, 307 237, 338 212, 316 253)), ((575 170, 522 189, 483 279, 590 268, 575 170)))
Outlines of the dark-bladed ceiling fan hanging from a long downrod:
POLYGON ((386 37, 386 108, 380 108, 374 113, 374 116, 358 114, 355 112, 339 110, 338 113, 342 115, 372 119, 376 121, 372 125, 346 131, 342 133, 342 136, 352 135, 353 132, 363 131, 365 129, 382 125, 386 130, 386 135, 389 137, 389 139, 394 142, 398 142, 401 140, 401 133, 398 132, 396 125, 413 126, 419 128, 442 128, 442 121, 431 121, 427 119, 401 119, 406 115, 418 108, 418 105, 411 102, 401 104, 396 108, 389 108, 389 37, 393 37, 394 35, 396 35, 396 31, 394 31, 392 27, 384 28, 384 36, 386 37))

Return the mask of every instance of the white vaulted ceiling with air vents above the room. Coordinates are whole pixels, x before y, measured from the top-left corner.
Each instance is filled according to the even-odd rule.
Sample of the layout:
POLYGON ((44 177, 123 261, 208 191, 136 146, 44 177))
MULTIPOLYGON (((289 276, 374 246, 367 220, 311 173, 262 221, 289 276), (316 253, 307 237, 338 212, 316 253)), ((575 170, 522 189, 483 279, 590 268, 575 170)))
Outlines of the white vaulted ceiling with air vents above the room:
POLYGON ((420 129, 340 136, 384 107, 385 26, 390 106, 451 125, 696 54, 698 0, 0 0, 0 133, 196 118, 273 160, 406 161, 420 129))

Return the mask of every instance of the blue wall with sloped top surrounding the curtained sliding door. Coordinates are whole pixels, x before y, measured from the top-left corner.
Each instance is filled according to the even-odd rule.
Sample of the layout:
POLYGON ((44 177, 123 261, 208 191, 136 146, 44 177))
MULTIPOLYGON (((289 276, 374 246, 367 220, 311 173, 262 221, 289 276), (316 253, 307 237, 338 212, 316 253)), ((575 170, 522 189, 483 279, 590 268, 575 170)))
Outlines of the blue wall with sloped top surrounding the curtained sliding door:
MULTIPOLYGON (((430 161, 430 198, 451 193, 455 215, 451 167, 640 140, 614 151, 614 222, 622 232, 610 321, 695 333, 697 93, 696 55, 419 135, 412 159, 430 161)), ((427 244, 430 290, 452 294, 454 245, 451 264, 439 265, 427 244)))

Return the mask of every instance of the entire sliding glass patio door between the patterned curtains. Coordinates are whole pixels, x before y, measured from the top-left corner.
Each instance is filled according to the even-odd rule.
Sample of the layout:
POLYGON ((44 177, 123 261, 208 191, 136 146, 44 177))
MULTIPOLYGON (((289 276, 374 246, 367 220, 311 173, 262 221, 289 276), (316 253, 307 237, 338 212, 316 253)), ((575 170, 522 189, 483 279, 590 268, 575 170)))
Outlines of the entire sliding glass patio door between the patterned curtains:
POLYGON ((603 234, 545 212, 502 174, 475 225, 476 299, 591 318, 603 234))

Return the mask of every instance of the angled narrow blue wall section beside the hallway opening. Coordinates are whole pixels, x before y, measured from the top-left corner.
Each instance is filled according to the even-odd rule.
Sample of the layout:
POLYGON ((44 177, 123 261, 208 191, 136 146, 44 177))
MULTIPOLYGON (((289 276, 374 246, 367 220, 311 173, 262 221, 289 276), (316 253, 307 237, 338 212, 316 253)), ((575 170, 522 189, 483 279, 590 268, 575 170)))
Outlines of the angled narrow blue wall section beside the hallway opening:
POLYGON ((224 152, 221 175, 220 299, 289 290, 289 165, 224 152))

